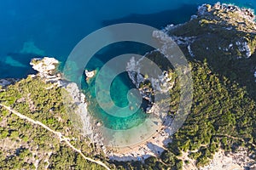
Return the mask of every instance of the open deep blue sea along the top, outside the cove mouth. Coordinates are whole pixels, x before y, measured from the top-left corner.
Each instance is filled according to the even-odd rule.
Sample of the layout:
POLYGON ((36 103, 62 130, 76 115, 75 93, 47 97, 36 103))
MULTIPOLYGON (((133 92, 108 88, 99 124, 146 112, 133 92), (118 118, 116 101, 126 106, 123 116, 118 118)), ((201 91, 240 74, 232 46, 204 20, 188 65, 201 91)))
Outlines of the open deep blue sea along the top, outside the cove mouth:
MULTIPOLYGON (((253 8, 253 0, 222 1, 253 8)), ((183 23, 206 0, 29 1, 0 3, 0 77, 26 77, 29 60, 49 55, 67 59, 73 47, 90 32, 120 22, 157 28, 183 23)))

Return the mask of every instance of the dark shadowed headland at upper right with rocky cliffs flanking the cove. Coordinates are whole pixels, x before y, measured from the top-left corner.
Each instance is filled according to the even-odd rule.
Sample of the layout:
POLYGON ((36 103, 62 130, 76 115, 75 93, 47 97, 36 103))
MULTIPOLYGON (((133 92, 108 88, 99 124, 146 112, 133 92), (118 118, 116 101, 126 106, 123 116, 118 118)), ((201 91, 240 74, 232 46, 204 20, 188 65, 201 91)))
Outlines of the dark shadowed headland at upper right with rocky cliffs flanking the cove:
MULTIPOLYGON (((256 96, 253 91, 253 88, 256 88, 256 83, 253 83, 256 82, 256 23, 253 10, 220 3, 213 6, 203 4, 188 22, 177 26, 166 26, 162 31, 177 43, 187 59, 201 61, 207 59, 212 71, 247 86, 249 94, 256 96)), ((161 31, 154 31, 153 37, 162 42, 166 39, 166 35, 161 31)), ((154 55, 162 56, 154 59, 158 64, 164 65, 162 70, 165 72, 159 82, 155 83, 155 80, 140 74, 140 61, 131 59, 127 65, 132 82, 140 88, 143 98, 150 102, 154 90, 140 85, 151 81, 155 84, 156 90, 167 92, 175 84, 174 79, 169 76, 172 75, 169 74, 172 71, 169 70, 170 67, 166 67, 162 55, 164 46, 165 44, 163 48, 145 54, 149 59, 154 55), (163 61, 160 61, 161 59, 163 61), (137 73, 129 71, 132 69, 137 73)), ((152 86, 151 83, 147 84, 152 86)))

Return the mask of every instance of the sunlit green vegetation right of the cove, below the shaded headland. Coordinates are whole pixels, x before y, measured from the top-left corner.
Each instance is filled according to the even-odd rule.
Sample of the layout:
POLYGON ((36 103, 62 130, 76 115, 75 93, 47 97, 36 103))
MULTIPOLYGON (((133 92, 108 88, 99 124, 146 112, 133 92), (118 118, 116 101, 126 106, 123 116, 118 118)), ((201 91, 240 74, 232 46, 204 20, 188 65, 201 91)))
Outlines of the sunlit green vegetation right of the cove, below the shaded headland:
MULTIPOLYGON (((193 151, 189 157, 204 166, 221 147, 235 151, 246 146, 255 150, 255 101, 244 88, 214 74, 207 63, 193 64, 194 102, 183 127, 173 135, 169 150, 176 156, 193 151)), ((174 94, 174 93, 172 93, 174 94)))

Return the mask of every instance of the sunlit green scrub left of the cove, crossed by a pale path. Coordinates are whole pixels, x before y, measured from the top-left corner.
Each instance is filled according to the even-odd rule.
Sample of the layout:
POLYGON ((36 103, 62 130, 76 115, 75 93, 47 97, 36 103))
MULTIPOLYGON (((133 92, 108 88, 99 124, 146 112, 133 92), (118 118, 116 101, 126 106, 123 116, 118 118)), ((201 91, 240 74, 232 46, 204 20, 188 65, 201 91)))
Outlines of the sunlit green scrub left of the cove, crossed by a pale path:
MULTIPOLYGON (((73 128, 62 103, 61 90, 39 78, 28 77, 1 92, 0 101, 61 132, 85 156, 104 159, 91 148, 89 140, 73 128)), ((85 161, 43 127, 26 122, 3 108, 0 108, 0 113, 1 169, 35 169, 36 166, 39 169, 104 169, 85 161)))

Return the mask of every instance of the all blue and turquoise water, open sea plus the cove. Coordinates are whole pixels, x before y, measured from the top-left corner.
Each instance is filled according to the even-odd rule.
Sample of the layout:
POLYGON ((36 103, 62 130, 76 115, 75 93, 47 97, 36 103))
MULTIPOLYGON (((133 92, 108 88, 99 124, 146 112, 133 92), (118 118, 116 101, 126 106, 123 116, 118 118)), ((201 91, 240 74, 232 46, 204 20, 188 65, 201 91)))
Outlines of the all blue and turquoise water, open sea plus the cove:
MULTIPOLYGON (((119 23, 139 23, 162 29, 180 24, 196 14, 202 3, 213 0, 9 0, 0 3, 0 78, 23 78, 35 73, 29 62, 35 57, 54 57, 65 65, 76 44, 91 32, 119 23)), ((255 0, 223 0, 240 7, 256 8, 255 0)), ((104 65, 119 54, 144 54, 148 48, 137 45, 113 45, 113 50, 99 52, 90 68, 104 65)), ((108 48, 109 49, 109 48, 108 48)), ((84 65, 85 66, 85 65, 84 65)), ((114 129, 137 126, 145 118, 143 111, 125 119, 114 118, 93 105, 95 94, 86 82, 84 93, 91 96, 90 111, 114 129)), ((128 105, 126 93, 134 85, 127 75, 113 82, 112 99, 120 107, 128 105)), ((90 100, 89 99, 89 100, 90 100)))

